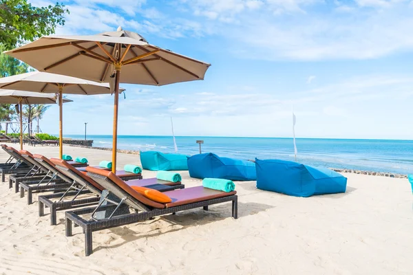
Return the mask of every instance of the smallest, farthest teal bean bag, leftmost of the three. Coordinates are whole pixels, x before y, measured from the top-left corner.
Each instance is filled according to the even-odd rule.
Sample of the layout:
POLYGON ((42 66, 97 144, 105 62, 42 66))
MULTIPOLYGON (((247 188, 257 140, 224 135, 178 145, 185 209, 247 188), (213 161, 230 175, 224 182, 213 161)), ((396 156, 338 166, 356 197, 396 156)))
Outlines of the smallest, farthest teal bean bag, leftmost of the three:
POLYGON ((187 155, 165 154, 157 151, 140 152, 140 163, 147 170, 188 170, 187 155))

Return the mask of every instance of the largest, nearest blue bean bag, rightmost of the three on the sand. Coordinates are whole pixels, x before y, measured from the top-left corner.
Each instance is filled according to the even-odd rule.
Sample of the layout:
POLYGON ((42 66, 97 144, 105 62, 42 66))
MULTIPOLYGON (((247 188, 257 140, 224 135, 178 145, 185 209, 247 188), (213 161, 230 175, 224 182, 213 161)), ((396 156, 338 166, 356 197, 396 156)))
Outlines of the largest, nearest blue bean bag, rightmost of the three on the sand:
POLYGON ((295 197, 346 192, 347 178, 328 168, 278 159, 255 159, 257 188, 295 197))

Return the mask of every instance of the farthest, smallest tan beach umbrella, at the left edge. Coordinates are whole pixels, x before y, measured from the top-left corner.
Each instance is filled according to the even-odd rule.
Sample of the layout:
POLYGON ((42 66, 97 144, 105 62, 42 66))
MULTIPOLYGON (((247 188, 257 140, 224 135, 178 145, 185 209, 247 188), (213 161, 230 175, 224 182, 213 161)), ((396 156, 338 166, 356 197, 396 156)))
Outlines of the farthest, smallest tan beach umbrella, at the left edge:
MULTIPOLYGON (((1 78, 0 78, 1 79, 1 78)), ((32 91, 15 91, 0 89, 1 104, 19 104, 20 114, 20 149, 23 150, 23 104, 56 104, 56 95, 34 93, 32 91)), ((73 100, 63 98, 62 102, 72 102, 73 100)))

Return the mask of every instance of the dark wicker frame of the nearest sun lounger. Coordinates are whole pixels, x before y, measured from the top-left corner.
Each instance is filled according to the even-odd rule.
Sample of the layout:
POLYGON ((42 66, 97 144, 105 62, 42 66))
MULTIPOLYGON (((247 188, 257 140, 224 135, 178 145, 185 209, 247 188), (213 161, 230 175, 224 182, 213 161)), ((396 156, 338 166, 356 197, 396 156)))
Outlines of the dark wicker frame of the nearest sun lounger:
MULTIPOLYGON (((88 173, 88 175, 89 174, 90 173, 88 173)), ((193 208, 202 207, 204 210, 208 210, 208 206, 228 201, 232 201, 232 217, 234 219, 237 219, 237 195, 230 195, 227 197, 198 201, 195 203, 188 203, 182 206, 174 206, 171 208, 158 209, 146 206, 137 199, 134 199, 134 197, 131 197, 127 192, 125 192, 125 190, 123 190, 116 184, 112 183, 112 181, 107 177, 93 174, 93 179, 105 188, 110 186, 110 189, 116 191, 112 192, 114 195, 122 194, 123 196, 116 195, 120 198, 120 203, 110 201, 107 198, 103 197, 102 201, 106 200, 112 204, 108 206, 100 206, 99 204, 97 207, 94 208, 84 208, 81 210, 67 211, 65 213, 66 236, 72 236, 72 223, 74 223, 75 226, 78 225, 81 228, 83 228, 83 232, 85 233, 85 256, 89 256, 90 254, 92 254, 92 232, 98 230, 114 228, 121 225, 127 225, 130 223, 137 223, 139 221, 145 221, 153 217, 162 216, 165 214, 175 214, 176 212, 190 210, 193 208), (127 204, 131 208, 134 208, 135 212, 132 214, 122 214, 116 216, 116 210, 118 210, 118 208, 120 208, 120 206, 122 206, 123 203, 127 204), (93 218, 93 214, 98 210, 113 210, 113 212, 112 215, 107 219, 96 220, 93 218), (89 220, 84 219, 83 217, 81 217, 81 215, 83 214, 92 214, 92 218, 89 220)), ((109 193, 111 193, 110 190, 107 193, 107 195, 109 195, 109 193)))

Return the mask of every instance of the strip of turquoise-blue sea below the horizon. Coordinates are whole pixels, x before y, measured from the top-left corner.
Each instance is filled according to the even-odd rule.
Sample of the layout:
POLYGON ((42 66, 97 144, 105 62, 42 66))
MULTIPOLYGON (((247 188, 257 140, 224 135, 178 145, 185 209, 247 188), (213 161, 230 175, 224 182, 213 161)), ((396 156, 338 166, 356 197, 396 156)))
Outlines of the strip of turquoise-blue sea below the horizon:
MULTIPOLYGON (((83 139, 84 135, 65 135, 83 139)), ((112 148, 112 135, 87 135, 93 146, 112 148)), ((285 159, 295 161, 292 138, 273 137, 176 137, 178 153, 202 153, 239 159, 285 159)), ((298 138, 297 162, 311 166, 413 173, 413 140, 339 140, 298 138)), ((134 151, 173 153, 173 137, 119 135, 118 148, 134 151)))

